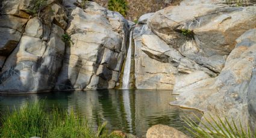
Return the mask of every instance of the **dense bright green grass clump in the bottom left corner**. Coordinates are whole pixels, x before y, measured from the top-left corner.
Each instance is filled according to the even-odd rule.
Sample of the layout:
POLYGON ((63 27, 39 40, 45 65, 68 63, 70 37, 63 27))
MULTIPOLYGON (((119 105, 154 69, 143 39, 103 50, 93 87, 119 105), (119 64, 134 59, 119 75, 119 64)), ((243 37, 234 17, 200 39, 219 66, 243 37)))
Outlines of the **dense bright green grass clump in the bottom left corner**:
POLYGON ((1 137, 43 137, 49 127, 43 103, 25 104, 24 107, 2 116, 1 137))

